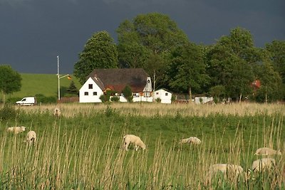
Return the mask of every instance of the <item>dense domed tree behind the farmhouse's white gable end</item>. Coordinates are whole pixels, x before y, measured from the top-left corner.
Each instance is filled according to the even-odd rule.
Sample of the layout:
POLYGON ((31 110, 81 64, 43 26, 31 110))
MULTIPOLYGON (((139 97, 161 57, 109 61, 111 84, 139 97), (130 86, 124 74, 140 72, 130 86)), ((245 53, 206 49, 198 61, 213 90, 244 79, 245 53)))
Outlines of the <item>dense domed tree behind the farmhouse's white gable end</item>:
POLYGON ((118 68, 117 47, 107 31, 94 33, 87 41, 74 65, 74 75, 83 84, 95 68, 118 68))

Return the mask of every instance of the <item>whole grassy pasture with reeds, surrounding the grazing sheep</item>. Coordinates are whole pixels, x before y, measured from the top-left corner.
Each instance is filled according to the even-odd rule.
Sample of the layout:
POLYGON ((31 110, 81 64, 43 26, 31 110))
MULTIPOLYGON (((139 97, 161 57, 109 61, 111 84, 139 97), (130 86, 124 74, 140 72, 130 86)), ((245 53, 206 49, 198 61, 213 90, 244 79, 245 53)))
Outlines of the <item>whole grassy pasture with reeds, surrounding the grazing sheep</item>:
POLYGON ((1 189, 285 188, 284 105, 2 105, 0 116, 1 189), (61 108, 60 118, 53 117, 54 107, 61 108), (21 125, 25 132, 6 132, 21 125), (24 142, 29 130, 37 133, 31 147, 24 142), (123 150, 125 134, 138 135, 147 149, 123 150), (178 143, 187 137, 202 144, 178 143), (204 183, 211 164, 251 169, 261 158, 254 155, 259 147, 281 150, 276 167, 250 171, 247 180, 217 176, 204 183))

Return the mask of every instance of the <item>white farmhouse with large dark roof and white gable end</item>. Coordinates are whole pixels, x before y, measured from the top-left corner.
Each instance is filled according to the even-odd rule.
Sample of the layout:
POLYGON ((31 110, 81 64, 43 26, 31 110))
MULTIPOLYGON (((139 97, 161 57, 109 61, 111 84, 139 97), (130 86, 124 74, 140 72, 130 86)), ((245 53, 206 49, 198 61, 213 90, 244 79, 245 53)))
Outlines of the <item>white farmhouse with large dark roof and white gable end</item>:
POLYGON ((122 91, 129 85, 133 93, 133 102, 152 102, 152 83, 142 68, 95 69, 79 90, 79 102, 102 102, 101 95, 108 90, 117 96, 120 102, 127 102, 122 91))

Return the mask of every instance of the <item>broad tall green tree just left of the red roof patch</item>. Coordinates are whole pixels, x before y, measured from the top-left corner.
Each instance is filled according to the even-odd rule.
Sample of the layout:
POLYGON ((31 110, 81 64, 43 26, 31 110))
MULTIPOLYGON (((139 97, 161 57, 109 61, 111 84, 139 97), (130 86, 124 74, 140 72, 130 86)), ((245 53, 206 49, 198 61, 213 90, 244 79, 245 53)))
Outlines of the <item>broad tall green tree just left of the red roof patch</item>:
POLYGON ((228 97, 241 100, 252 93, 254 65, 259 62, 259 51, 252 35, 244 28, 234 28, 229 36, 222 36, 207 52, 207 73, 211 86, 223 86, 228 97))

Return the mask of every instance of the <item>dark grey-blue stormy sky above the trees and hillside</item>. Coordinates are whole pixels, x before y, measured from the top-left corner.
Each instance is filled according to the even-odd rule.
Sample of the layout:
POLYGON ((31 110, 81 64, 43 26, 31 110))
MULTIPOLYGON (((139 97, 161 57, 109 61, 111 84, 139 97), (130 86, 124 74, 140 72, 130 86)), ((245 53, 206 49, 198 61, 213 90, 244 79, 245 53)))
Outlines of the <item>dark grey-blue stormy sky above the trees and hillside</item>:
POLYGON ((232 28, 255 46, 285 40, 285 1, 265 0, 0 0, 0 64, 19 73, 73 73, 78 53, 98 31, 115 30, 138 14, 167 14, 190 41, 212 44, 232 28))

